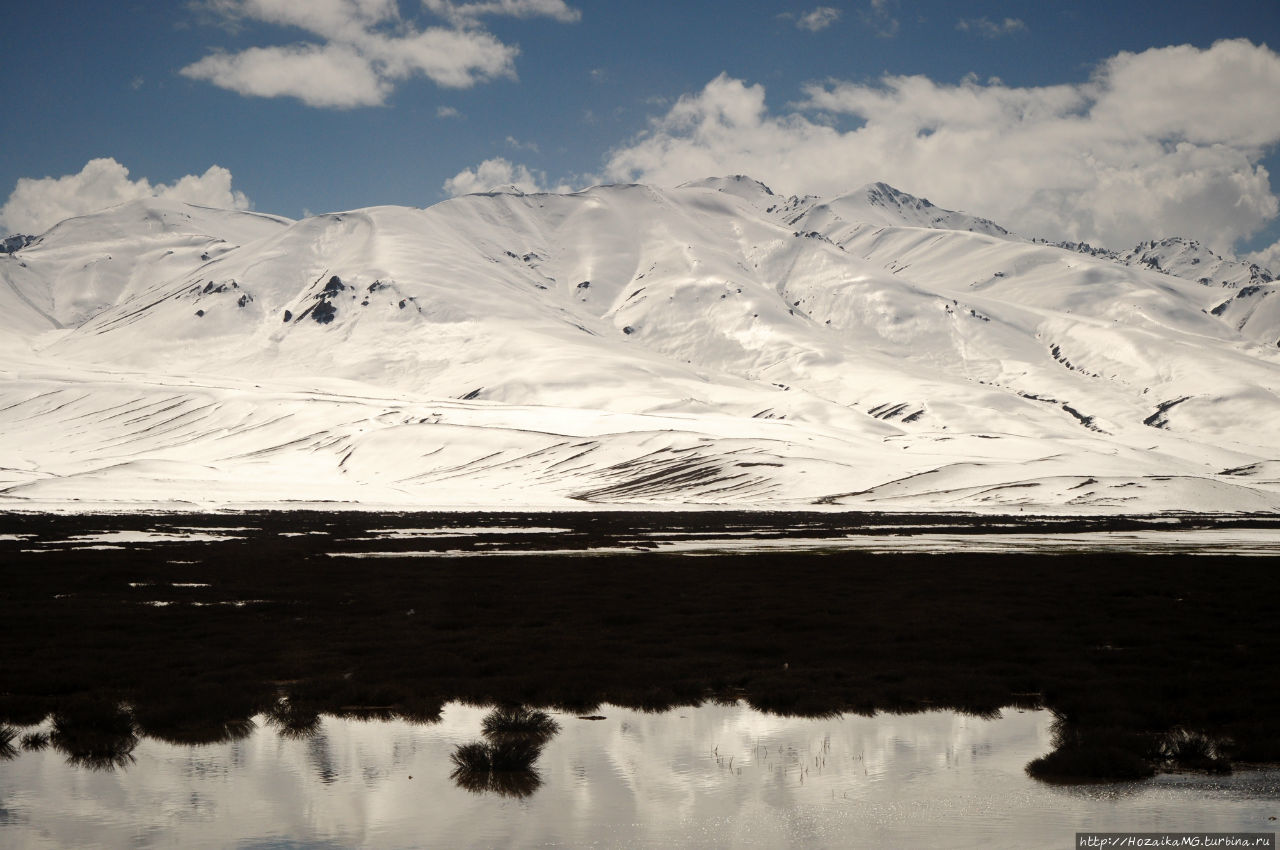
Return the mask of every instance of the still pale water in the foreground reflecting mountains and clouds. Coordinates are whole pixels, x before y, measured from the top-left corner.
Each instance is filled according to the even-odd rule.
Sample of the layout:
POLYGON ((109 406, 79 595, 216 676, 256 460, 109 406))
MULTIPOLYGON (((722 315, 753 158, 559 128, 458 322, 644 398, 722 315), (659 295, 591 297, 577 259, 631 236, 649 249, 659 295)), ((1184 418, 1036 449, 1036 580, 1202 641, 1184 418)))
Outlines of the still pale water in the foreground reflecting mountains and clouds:
MULTIPOLYGON (((1274 832, 1280 771, 1055 786, 1048 712, 783 718, 741 704, 554 714, 525 795, 467 791, 454 748, 488 709, 438 723, 259 718, 211 746, 143 740, 124 769, 52 749, 0 763, 5 847, 1036 847, 1076 831, 1274 832)), ((29 730, 23 730, 29 731, 29 730)))

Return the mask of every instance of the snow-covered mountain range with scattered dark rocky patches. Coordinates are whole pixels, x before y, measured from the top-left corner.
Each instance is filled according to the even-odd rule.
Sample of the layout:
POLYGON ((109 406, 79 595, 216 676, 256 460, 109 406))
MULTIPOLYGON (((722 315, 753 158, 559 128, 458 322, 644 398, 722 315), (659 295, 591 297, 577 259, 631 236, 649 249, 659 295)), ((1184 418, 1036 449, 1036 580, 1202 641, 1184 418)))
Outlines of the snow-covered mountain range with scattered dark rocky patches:
POLYGON ((136 201, 0 255, 0 508, 1276 511, 1277 288, 882 183, 136 201))

